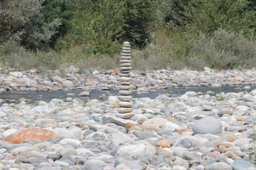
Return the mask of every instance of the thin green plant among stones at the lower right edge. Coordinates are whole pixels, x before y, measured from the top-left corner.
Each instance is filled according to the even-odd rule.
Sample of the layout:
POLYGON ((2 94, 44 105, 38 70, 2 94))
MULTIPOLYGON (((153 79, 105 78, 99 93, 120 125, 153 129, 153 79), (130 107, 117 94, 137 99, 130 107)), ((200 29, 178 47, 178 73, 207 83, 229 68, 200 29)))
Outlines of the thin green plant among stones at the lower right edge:
POLYGON ((249 160, 251 163, 256 165, 256 129, 255 124, 252 125, 253 132, 249 134, 248 138, 251 138, 250 147, 248 148, 247 155, 249 156, 249 160))

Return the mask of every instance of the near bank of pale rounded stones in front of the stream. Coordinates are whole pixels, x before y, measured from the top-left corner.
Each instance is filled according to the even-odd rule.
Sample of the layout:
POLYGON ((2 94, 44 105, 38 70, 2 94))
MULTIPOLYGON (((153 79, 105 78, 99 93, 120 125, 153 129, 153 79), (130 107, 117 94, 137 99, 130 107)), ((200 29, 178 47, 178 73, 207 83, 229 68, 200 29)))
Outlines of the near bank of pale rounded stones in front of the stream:
POLYGON ((256 91, 134 98, 70 98, 0 106, 0 168, 12 170, 255 170, 256 91), (24 139, 24 140, 23 140, 24 139), (254 156, 252 154, 252 156, 254 156), (249 168, 250 167, 250 168, 249 168), (248 169, 249 168, 249 169, 248 169))

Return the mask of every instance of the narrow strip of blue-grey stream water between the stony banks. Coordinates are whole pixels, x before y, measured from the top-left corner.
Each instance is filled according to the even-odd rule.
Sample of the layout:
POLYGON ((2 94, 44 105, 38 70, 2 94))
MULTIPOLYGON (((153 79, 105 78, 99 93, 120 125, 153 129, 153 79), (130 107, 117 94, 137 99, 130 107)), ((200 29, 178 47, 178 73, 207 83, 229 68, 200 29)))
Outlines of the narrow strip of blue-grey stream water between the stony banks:
MULTIPOLYGON (((171 88, 166 90, 160 90, 156 89, 154 91, 150 91, 148 93, 142 93, 138 94, 137 91, 132 92, 133 97, 149 97, 151 99, 154 99, 159 94, 170 94, 171 96, 175 95, 182 95, 185 94, 187 91, 194 91, 194 92, 202 92, 205 94, 207 91, 212 91, 215 94, 218 94, 220 92, 228 93, 228 92, 241 92, 241 91, 247 91, 250 92, 251 90, 256 89, 256 86, 250 86, 251 89, 241 89, 239 86, 223 86, 221 88, 215 88, 215 87, 178 87, 178 88, 171 88)), ((84 97, 84 96, 78 96, 79 93, 82 92, 82 90, 73 90, 73 91, 6 91, 0 93, 0 99, 6 100, 6 99, 15 99, 16 101, 20 98, 30 99, 33 103, 35 101, 41 100, 44 102, 49 102, 52 99, 66 99, 67 97, 71 98, 80 98, 80 99, 99 99, 104 100, 109 95, 117 95, 119 90, 108 90, 108 91, 99 91, 95 90, 92 91, 90 94, 90 97, 84 97), (75 95, 73 96, 67 96, 67 94, 73 93, 75 95), (105 97, 104 97, 105 96, 105 97)), ((214 95, 214 94, 210 94, 214 95)))

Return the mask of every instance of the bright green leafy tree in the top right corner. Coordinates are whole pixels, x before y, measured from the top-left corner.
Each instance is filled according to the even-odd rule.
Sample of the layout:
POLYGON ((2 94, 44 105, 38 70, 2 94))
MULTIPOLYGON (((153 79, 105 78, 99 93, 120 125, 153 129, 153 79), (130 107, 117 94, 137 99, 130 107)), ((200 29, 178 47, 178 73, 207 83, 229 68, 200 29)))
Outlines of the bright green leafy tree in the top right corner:
POLYGON ((204 34, 214 34, 219 28, 243 35, 255 32, 256 3, 250 0, 192 0, 192 26, 204 34))

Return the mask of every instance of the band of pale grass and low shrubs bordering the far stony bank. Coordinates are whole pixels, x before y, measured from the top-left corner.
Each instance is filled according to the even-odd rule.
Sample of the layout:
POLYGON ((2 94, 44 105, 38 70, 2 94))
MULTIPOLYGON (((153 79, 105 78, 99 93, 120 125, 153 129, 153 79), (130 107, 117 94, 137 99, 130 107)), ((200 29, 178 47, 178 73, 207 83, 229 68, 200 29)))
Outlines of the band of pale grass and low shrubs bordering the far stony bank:
MULTIPOLYGON (((253 68, 256 61, 256 41, 241 34, 215 31, 212 37, 200 34, 158 30, 143 50, 132 49, 132 67, 135 70, 190 68, 202 70, 253 68)), ((120 49, 121 52, 121 49, 120 49)), ((120 54, 88 54, 79 46, 69 51, 27 51, 19 46, 5 45, 0 51, 3 64, 19 70, 36 68, 38 71, 55 70, 68 65, 78 68, 119 68, 120 54)))

